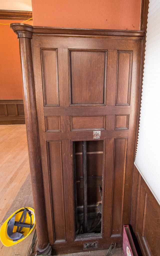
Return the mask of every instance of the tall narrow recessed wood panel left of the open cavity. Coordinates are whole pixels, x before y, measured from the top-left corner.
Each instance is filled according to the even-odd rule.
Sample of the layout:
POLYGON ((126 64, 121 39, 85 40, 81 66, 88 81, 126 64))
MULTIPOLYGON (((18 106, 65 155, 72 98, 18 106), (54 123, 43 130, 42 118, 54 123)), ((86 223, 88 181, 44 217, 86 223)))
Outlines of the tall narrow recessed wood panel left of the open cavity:
POLYGON ((48 166, 54 241, 66 240, 61 141, 48 141, 48 166))

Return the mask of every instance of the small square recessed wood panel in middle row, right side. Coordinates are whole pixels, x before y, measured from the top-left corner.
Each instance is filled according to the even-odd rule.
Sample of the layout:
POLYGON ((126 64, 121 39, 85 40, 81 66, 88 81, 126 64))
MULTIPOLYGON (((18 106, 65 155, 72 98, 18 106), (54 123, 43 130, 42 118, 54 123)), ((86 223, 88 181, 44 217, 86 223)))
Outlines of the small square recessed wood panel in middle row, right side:
POLYGON ((129 115, 115 115, 115 130, 127 130, 129 115))

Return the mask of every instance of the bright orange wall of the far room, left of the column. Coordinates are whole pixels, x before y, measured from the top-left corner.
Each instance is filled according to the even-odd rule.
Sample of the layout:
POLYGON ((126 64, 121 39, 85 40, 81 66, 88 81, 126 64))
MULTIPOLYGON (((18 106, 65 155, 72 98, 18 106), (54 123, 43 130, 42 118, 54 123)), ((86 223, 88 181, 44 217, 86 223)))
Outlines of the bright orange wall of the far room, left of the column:
MULTIPOLYGON (((0 20, 0 23, 15 22, 20 21, 0 20)), ((0 46, 0 99, 23 99, 18 39, 9 25, 0 25, 0 46)))

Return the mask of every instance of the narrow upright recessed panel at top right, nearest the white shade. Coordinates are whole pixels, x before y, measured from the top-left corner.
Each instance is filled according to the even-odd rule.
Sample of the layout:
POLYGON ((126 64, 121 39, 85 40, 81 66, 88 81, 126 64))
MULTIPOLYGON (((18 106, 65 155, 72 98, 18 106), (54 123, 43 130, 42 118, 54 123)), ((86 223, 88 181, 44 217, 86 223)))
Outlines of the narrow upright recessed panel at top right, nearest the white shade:
POLYGON ((130 105, 132 51, 118 51, 116 105, 130 105))

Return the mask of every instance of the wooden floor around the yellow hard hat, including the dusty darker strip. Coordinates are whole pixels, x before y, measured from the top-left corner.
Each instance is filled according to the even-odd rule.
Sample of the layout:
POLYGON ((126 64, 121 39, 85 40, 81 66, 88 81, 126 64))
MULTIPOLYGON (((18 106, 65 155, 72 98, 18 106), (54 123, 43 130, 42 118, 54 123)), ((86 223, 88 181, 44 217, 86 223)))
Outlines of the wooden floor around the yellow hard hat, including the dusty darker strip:
MULTIPOLYGON (((26 126, 0 125, 0 226, 17 209, 33 207, 26 126)), ((27 256, 33 237, 32 232, 22 242, 5 247, 0 242, 1 256, 27 256)), ((67 254, 68 256, 104 256, 107 250, 67 254)), ((123 256, 116 249, 115 256, 123 256)))

